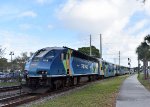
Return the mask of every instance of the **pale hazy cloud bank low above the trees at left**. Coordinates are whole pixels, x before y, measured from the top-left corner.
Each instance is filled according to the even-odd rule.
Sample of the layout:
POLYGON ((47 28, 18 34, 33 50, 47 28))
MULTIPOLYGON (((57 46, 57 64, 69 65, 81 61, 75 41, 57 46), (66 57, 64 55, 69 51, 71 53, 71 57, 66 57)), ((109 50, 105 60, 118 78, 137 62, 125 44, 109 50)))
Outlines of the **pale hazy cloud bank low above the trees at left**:
POLYGON ((0 30, 0 37, 1 46, 6 48, 6 55, 4 57, 8 59, 10 59, 10 51, 14 51, 14 58, 19 56, 22 52, 35 52, 39 48, 44 47, 40 38, 34 35, 0 30))

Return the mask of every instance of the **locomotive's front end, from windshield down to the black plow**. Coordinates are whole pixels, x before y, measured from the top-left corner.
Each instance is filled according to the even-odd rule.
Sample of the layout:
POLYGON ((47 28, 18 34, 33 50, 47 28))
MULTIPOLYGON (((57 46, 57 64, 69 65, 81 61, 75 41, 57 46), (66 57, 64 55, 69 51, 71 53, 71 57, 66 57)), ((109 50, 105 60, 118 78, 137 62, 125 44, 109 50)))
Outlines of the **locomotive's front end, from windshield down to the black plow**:
MULTIPOLYGON (((37 51, 26 63, 25 77, 26 85, 30 89, 40 89, 50 86, 51 65, 58 56, 58 52, 52 48, 45 48, 37 51)), ((42 90, 43 91, 43 90, 42 90)), ((39 93, 39 92, 38 92, 39 93)))

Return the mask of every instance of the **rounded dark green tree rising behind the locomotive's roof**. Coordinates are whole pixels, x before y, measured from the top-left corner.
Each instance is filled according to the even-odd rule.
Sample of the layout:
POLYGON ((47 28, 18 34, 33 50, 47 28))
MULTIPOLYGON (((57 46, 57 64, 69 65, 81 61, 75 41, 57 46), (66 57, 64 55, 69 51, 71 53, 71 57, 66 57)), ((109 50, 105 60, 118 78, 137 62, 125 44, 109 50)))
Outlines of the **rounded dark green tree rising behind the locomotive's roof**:
MULTIPOLYGON (((91 50, 92 50, 92 56, 100 58, 99 50, 96 49, 95 46, 91 46, 91 50)), ((78 48, 78 51, 86 55, 90 55, 90 47, 81 47, 81 48, 78 48)))

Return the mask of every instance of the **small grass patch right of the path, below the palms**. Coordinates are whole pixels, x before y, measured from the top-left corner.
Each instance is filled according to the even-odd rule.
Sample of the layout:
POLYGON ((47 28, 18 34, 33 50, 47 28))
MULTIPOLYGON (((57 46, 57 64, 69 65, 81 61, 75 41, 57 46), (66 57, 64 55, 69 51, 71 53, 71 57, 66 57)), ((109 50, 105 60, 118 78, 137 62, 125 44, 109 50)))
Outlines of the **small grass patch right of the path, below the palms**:
POLYGON ((138 75, 138 80, 140 81, 140 83, 142 85, 145 86, 145 88, 147 88, 150 91, 150 79, 145 80, 144 79, 144 74, 139 74, 138 75))

